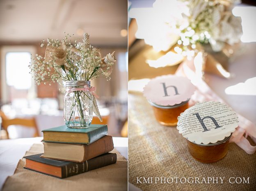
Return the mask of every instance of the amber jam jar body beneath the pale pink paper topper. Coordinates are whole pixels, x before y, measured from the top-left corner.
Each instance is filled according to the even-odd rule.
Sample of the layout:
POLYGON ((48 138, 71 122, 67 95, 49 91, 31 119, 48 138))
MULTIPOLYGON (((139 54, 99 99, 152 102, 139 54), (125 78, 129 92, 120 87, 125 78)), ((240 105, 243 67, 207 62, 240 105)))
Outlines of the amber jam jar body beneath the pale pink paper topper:
POLYGON ((176 126, 178 116, 189 107, 188 101, 189 99, 174 106, 160 106, 152 101, 149 101, 149 103, 153 107, 155 118, 160 124, 165 126, 176 126))

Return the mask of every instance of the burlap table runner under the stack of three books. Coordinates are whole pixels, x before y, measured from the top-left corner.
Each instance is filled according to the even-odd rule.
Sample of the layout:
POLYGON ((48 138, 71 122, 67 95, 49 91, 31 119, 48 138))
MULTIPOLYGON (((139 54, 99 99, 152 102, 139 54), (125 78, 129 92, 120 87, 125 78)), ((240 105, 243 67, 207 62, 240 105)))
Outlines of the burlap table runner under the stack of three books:
MULTIPOLYGON (((25 156, 43 153, 43 144, 34 144, 25 156)), ((127 190, 127 160, 117 151, 117 163, 65 179, 27 169, 25 159, 18 162, 14 175, 7 178, 2 191, 84 191, 127 190)))

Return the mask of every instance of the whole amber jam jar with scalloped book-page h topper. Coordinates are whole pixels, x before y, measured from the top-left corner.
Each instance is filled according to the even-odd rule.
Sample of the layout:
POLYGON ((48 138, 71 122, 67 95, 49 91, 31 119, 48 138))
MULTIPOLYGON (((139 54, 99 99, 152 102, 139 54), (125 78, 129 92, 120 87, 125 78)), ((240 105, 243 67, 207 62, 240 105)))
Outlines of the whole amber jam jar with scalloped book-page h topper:
POLYGON ((181 113, 177 129, 186 138, 188 151, 195 160, 213 163, 226 156, 238 122, 238 115, 231 107, 218 101, 205 101, 181 113))

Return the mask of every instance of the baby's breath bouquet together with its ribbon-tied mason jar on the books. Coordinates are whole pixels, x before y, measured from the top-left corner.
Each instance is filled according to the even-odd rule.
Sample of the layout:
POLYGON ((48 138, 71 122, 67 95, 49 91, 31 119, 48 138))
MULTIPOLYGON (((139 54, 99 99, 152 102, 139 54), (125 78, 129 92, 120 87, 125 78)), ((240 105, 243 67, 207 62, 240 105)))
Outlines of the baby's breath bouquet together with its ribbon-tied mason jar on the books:
POLYGON ((92 110, 101 120, 95 97, 95 87, 90 81, 98 77, 110 80, 112 65, 116 61, 113 54, 101 57, 100 50, 91 46, 89 35, 84 34, 82 42, 71 42, 67 34, 64 39, 43 40, 46 46, 45 56, 36 54, 30 64, 31 73, 37 84, 66 82, 64 97, 64 118, 67 126, 88 127, 92 120, 92 110), (67 88, 67 84, 69 87, 67 88), (71 103, 72 102, 72 103, 71 103), (65 115, 68 115, 65 116, 65 115))

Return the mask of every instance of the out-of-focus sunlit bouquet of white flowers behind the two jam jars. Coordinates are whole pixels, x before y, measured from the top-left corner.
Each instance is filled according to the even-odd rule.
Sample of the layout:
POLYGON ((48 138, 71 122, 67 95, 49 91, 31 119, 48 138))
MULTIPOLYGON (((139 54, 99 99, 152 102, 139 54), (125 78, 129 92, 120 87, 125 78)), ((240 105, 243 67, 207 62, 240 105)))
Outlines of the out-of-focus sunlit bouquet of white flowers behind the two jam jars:
MULTIPOLYGON (((137 38, 156 51, 167 52, 162 60, 203 55, 202 70, 228 77, 221 67, 228 64, 242 36, 241 18, 232 13, 237 3, 240 0, 155 0, 153 8, 145 11, 147 16, 135 9, 131 16, 137 19, 137 38), (148 17, 150 22, 144 20, 148 17), (170 51, 177 53, 176 57, 171 57, 175 54, 168 54, 170 51)), ((160 59, 156 67, 164 65, 160 59)))

